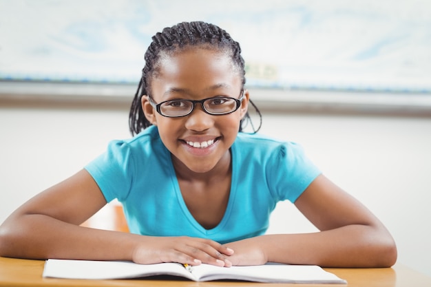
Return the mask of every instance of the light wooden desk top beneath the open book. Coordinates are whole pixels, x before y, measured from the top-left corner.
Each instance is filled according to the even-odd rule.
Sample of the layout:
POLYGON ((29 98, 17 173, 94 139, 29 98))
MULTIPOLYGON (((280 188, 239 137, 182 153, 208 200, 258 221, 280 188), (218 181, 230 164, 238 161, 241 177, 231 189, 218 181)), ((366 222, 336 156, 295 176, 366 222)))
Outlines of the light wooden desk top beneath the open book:
MULTIPOLYGON (((127 279, 127 280, 72 280, 42 278, 43 260, 26 260, 0 257, 0 286, 346 286, 339 284, 264 284, 253 282, 209 281, 194 282, 162 279, 127 279)), ((346 279, 348 287, 422 287, 431 286, 431 277, 427 277, 400 264, 393 268, 325 268, 331 273, 346 279)))

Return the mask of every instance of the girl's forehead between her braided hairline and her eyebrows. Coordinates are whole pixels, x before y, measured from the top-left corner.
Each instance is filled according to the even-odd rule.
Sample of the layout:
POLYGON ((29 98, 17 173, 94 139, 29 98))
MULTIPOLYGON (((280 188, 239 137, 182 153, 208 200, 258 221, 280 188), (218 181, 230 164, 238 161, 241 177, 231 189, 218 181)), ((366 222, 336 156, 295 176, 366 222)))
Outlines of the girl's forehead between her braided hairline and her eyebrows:
POLYGON ((238 88, 242 84, 240 69, 224 50, 190 47, 160 54, 151 90, 165 93, 169 89, 193 89, 198 92, 214 86, 238 88))

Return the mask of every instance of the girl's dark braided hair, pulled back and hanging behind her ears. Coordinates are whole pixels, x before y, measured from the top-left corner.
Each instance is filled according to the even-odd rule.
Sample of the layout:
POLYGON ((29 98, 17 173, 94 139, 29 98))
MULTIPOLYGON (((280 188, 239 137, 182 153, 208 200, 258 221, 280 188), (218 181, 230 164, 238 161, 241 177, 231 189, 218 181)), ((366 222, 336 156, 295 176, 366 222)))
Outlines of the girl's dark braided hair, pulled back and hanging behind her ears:
MULTIPOLYGON (((244 59, 242 59, 241 56, 240 44, 233 41, 225 30, 216 25, 201 21, 182 22, 171 28, 163 29, 162 32, 158 32, 154 35, 152 40, 147 52, 145 52, 145 66, 142 70, 142 77, 140 78, 138 89, 136 90, 129 112, 129 129, 132 136, 151 125, 147 118, 145 118, 141 105, 141 98, 151 92, 149 91, 151 77, 156 76, 158 72, 158 61, 162 54, 179 52, 191 46, 223 50, 224 52, 228 52, 231 56, 233 63, 235 63, 240 71, 242 85, 244 86, 245 84, 244 59)), ((250 103, 257 111, 260 117, 260 125, 262 125, 262 116, 259 109, 257 109, 251 100, 250 103)), ((249 112, 246 113, 240 122, 240 131, 242 131, 247 123, 251 123, 254 133, 260 129, 260 126, 257 127, 257 129, 253 126, 249 112)))

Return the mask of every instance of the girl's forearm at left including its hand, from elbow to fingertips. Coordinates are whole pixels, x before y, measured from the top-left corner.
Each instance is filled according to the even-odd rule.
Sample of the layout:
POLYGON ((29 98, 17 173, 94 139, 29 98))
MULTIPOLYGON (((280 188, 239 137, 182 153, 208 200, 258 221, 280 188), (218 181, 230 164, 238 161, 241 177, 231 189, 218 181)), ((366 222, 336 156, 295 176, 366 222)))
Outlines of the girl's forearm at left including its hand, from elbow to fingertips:
POLYGON ((231 266, 226 246, 194 237, 154 237, 77 226, 48 215, 10 218, 0 227, 0 256, 29 259, 127 260, 231 266))

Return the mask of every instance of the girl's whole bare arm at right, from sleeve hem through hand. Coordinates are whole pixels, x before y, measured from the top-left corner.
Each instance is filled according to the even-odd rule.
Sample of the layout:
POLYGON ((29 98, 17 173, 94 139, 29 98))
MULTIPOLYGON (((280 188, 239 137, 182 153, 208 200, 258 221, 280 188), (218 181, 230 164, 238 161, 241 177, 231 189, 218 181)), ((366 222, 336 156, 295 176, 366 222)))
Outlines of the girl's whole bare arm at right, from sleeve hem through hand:
POLYGON ((366 207, 326 177, 317 177, 295 206, 320 232, 263 235, 227 244, 235 264, 316 264, 326 267, 387 267, 397 248, 366 207))

